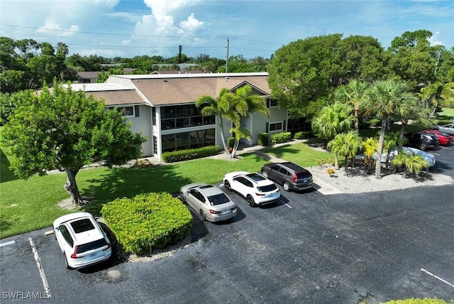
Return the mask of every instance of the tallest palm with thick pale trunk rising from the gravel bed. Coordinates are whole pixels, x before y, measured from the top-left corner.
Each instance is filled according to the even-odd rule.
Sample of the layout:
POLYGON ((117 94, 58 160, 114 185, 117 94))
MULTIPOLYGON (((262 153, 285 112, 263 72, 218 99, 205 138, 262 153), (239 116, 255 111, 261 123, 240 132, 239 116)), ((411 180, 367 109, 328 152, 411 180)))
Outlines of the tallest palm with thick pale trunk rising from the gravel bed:
POLYGON ((396 80, 377 80, 365 92, 365 116, 377 116, 382 121, 380 139, 377 148, 377 163, 375 164, 375 178, 382 178, 381 159, 383 151, 384 133, 387 129, 387 120, 390 116, 404 116, 406 101, 412 99, 404 82, 396 80))

